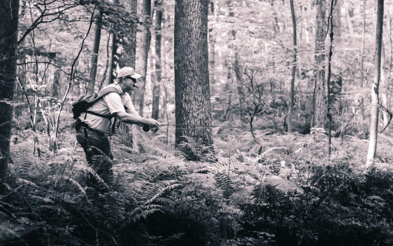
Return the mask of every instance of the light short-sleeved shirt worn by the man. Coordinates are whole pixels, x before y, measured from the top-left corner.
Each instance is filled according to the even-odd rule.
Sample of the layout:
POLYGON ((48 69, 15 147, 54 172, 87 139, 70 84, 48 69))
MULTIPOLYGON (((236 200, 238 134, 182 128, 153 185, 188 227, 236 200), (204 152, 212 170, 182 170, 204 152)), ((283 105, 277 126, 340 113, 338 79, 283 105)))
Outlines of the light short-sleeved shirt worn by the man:
MULTIPOLYGON (((127 92, 123 92, 116 84, 110 84, 105 87, 114 87, 119 93, 110 92, 96 101, 88 110, 100 115, 110 116, 118 112, 127 112, 134 116, 139 116, 132 103, 131 97, 127 92)), ((79 119, 86 123, 92 129, 105 133, 111 127, 111 119, 99 117, 92 114, 84 114, 79 119), (86 117, 86 119, 84 119, 86 117)), ((113 121, 113 120, 112 120, 113 121)))

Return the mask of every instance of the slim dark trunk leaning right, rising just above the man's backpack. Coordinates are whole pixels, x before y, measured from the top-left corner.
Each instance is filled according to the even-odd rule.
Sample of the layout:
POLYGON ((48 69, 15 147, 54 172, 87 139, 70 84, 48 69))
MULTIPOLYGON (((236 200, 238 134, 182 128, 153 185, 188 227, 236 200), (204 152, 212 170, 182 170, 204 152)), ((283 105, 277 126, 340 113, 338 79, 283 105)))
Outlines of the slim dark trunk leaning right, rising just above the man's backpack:
POLYGON ((98 14, 97 22, 95 24, 94 47, 93 47, 93 55, 91 57, 90 81, 87 87, 87 94, 94 94, 95 76, 97 74, 98 50, 100 48, 100 39, 101 39, 101 27, 102 27, 102 12, 98 14))

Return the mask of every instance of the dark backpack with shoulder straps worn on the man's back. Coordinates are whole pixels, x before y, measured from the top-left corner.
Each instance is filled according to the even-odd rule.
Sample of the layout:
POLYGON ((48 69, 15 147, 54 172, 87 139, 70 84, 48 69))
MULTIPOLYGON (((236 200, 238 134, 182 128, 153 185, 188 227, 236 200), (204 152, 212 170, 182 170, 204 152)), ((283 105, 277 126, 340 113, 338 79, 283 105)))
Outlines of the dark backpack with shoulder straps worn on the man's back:
POLYGON ((93 95, 82 95, 78 98, 78 100, 72 104, 72 113, 74 114, 74 119, 78 119, 78 117, 81 116, 82 113, 89 113, 95 116, 99 117, 104 117, 104 118, 112 118, 114 115, 101 115, 97 114, 92 111, 88 111, 88 108, 91 107, 95 102, 97 102, 99 99, 101 99, 104 95, 110 93, 110 92, 116 92, 117 94, 120 94, 116 88, 114 87, 107 87, 98 94, 93 94, 93 95))

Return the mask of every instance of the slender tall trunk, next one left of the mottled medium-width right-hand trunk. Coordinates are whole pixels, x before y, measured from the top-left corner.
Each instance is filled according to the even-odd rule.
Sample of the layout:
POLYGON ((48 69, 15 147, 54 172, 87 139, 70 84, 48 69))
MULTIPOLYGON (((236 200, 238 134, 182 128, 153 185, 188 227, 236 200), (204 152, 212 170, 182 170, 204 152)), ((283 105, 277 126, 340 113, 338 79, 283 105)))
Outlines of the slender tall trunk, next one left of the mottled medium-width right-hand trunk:
POLYGON ((291 99, 289 102, 289 112, 288 112, 288 132, 292 132, 292 114, 293 114, 293 104, 295 96, 295 76, 296 76, 296 54, 297 54, 297 44, 296 44, 296 16, 295 9, 293 8, 293 0, 289 1, 291 5, 291 15, 292 15, 292 27, 293 27, 293 64, 292 64, 292 78, 291 78, 291 99))

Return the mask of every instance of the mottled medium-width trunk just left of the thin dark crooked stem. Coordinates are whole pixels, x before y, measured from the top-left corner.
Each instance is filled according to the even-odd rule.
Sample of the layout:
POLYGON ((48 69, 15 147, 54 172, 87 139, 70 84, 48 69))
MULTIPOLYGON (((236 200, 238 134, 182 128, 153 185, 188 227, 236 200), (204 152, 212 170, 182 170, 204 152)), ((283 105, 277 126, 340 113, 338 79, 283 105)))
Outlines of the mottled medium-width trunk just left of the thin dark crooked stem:
POLYGON ((326 119, 325 83, 325 39, 326 39, 326 0, 316 0, 315 65, 316 88, 314 107, 314 126, 324 127, 326 119))

